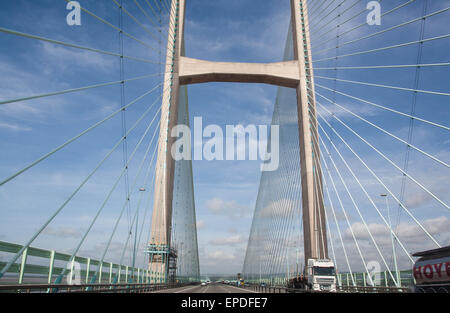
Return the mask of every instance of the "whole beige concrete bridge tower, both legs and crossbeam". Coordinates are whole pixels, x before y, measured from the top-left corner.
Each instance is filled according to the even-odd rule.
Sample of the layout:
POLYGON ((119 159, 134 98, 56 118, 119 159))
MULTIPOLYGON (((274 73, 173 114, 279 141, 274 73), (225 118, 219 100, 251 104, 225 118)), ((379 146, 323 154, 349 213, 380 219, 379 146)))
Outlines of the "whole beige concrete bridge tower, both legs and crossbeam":
POLYGON ((175 138, 171 137, 171 132, 177 125, 180 86, 188 84, 265 83, 296 89, 305 264, 309 258, 328 258, 307 1, 290 1, 294 60, 264 64, 209 62, 185 57, 184 20, 187 1, 171 2, 149 245, 149 269, 153 282, 167 281, 169 256, 174 256, 170 236, 175 168, 171 150, 175 138))

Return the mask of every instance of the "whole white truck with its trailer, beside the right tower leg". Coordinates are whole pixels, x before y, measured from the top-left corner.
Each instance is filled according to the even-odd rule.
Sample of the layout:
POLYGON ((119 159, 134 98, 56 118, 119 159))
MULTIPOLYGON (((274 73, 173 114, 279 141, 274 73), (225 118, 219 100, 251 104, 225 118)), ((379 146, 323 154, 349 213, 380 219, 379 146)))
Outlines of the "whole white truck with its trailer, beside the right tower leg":
POLYGON ((336 292, 336 270, 329 259, 308 259, 305 275, 289 280, 288 288, 316 292, 336 292))

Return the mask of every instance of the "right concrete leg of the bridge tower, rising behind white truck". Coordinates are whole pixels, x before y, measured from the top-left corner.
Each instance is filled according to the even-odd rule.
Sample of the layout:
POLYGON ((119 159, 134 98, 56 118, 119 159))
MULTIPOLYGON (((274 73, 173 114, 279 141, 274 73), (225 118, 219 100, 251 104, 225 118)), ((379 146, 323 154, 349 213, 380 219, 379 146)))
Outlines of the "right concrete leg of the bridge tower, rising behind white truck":
POLYGON ((294 59, 298 60, 300 71, 300 82, 297 87, 297 111, 306 265, 310 258, 328 258, 328 245, 307 1, 291 0, 291 14, 294 59))

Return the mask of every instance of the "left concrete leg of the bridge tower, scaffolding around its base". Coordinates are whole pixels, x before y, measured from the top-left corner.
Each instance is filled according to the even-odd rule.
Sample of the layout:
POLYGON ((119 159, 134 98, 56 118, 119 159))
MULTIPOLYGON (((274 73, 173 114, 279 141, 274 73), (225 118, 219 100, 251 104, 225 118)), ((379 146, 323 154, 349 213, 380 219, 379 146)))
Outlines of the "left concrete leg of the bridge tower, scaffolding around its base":
POLYGON ((179 60, 184 45, 185 0, 172 0, 170 7, 167 54, 161 105, 161 122, 156 161, 149 270, 152 283, 167 282, 171 254, 172 200, 175 161, 171 150, 175 141, 170 134, 178 122, 179 60))

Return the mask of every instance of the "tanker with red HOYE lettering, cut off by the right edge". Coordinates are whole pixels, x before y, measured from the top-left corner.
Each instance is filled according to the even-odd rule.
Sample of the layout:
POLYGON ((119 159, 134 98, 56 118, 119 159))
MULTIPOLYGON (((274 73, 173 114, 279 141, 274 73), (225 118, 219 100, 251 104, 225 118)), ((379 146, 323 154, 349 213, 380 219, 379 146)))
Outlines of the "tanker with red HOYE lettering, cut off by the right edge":
POLYGON ((414 253, 415 292, 450 292, 450 246, 414 253))

